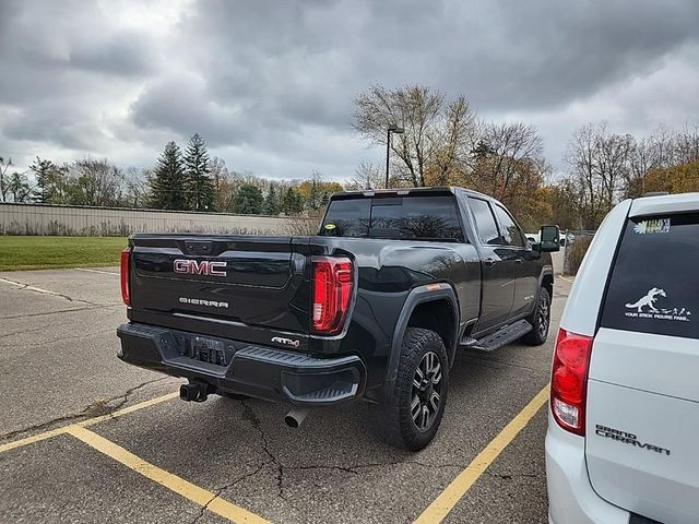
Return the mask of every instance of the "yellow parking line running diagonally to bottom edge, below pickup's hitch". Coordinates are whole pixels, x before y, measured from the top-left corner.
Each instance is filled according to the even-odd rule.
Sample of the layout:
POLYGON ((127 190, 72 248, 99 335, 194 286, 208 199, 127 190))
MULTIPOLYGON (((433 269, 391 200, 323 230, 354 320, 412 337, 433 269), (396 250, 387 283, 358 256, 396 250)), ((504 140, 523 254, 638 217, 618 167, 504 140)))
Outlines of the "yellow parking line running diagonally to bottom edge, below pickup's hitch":
POLYGON ((175 491, 177 495, 191 500, 196 504, 206 508, 213 513, 216 513, 230 522, 251 524, 262 524, 268 522, 254 513, 250 513, 249 511, 222 499, 211 491, 200 488, 177 475, 166 472, 165 469, 161 469, 150 462, 145 462, 143 458, 125 450, 120 445, 115 444, 110 440, 90 431, 88 429, 75 425, 69 426, 66 431, 100 453, 104 453, 105 455, 123 464, 128 468, 133 469, 144 477, 150 478, 161 486, 175 491))

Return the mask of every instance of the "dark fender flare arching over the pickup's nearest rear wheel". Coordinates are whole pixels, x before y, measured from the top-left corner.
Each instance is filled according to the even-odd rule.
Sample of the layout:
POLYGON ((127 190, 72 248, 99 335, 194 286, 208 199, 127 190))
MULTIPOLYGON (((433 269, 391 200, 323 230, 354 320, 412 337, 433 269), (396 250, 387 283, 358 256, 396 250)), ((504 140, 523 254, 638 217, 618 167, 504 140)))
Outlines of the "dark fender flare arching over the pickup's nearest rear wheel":
POLYGON ((436 300, 447 299, 451 303, 451 310, 453 311, 453 325, 454 336, 452 347, 447 347, 447 355, 449 356, 449 367, 453 364, 457 353, 457 344, 459 342, 459 301, 457 300, 457 294, 453 288, 447 284, 426 284, 424 286, 415 287, 411 290, 403 302, 403 308, 395 322, 393 330, 393 338, 391 340, 391 354, 389 356, 389 364, 386 373, 384 391, 393 391, 393 385, 398 378, 398 365, 401 356, 401 346, 403 344, 403 335, 407 329, 407 322, 413 314, 413 311, 417 306, 425 302, 434 302, 436 300), (439 286, 439 288, 435 288, 439 286))

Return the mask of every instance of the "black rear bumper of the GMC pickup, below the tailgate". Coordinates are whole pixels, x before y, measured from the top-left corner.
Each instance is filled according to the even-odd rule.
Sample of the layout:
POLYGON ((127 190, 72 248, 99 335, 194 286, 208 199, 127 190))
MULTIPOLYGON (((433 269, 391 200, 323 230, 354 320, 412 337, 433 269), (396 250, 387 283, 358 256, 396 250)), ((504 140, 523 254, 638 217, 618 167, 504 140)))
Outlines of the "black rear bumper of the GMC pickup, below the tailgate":
MULTIPOLYGON (((125 362, 209 384, 209 391, 241 393, 272 402, 319 407, 362 396, 366 367, 358 356, 321 359, 277 348, 209 337, 223 361, 189 358, 199 335, 146 324, 117 330, 125 362)), ((212 360, 212 359, 210 359, 212 360)), ((213 359, 215 360, 215 359, 213 359)))

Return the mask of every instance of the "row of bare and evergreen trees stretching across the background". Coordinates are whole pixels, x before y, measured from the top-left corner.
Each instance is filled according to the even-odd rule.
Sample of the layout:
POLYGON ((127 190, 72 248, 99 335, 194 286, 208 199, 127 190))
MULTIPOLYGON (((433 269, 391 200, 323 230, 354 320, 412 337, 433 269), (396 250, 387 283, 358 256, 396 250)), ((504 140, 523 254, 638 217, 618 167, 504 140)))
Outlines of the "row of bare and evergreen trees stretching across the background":
MULTIPOLYGON (((370 86, 354 100, 355 130, 369 144, 390 140, 390 186, 461 186, 502 201, 535 230, 555 223, 594 229, 624 198, 649 191, 699 191, 699 127, 659 128, 636 138, 604 122, 577 129, 565 168, 555 172, 537 129, 478 118, 463 95, 449 99, 427 86, 370 86), (390 126, 402 133, 387 136, 390 126)), ((194 134, 182 151, 168 142, 153 168, 120 168, 85 158, 58 165, 37 157, 29 172, 12 172, 0 157, 0 201, 152 207, 240 214, 318 214, 343 186, 315 171, 305 180, 256 177, 211 158, 194 134), (29 174, 33 175, 29 177, 29 174)), ((360 162, 345 189, 384 186, 384 167, 360 162)))

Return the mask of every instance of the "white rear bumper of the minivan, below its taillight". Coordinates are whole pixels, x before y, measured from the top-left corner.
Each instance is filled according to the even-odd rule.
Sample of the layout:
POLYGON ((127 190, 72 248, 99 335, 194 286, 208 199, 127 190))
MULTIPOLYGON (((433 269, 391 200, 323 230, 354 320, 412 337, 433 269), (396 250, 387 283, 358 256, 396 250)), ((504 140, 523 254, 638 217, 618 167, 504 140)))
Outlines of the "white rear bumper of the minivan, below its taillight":
POLYGON ((546 487, 549 524, 629 524, 630 514, 602 499, 588 476, 584 439, 558 427, 548 413, 546 487))

